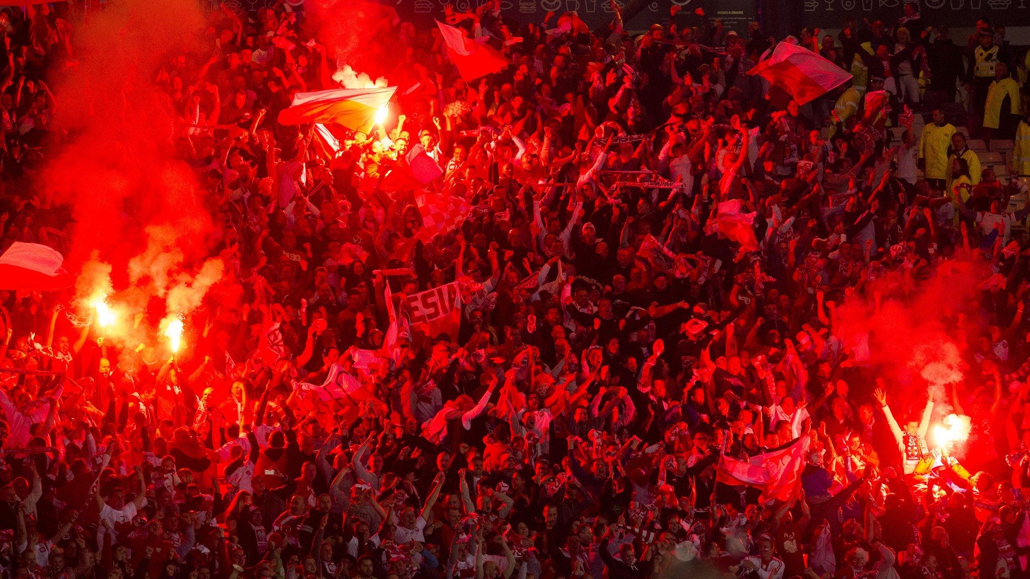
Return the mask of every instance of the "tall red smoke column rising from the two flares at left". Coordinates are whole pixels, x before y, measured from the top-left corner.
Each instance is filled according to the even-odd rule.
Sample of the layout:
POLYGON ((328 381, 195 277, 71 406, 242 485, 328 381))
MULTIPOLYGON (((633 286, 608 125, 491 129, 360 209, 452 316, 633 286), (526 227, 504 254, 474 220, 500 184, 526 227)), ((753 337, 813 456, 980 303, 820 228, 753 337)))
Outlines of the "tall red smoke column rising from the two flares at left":
POLYGON ((197 63, 171 57, 209 58, 205 29, 196 0, 108 2, 76 28, 77 65, 55 75, 54 129, 63 142, 42 176, 71 208, 66 266, 81 267, 75 301, 87 313, 92 296, 113 292, 108 302, 125 309, 121 337, 131 346, 144 340, 129 334, 145 330, 130 328, 132 313, 152 309, 158 297, 169 312, 188 314, 225 269, 204 262, 217 229, 194 169, 176 155, 187 145, 174 129, 183 111, 154 80, 164 70, 177 84, 181 70, 183 93, 199 80, 190 76, 197 63))

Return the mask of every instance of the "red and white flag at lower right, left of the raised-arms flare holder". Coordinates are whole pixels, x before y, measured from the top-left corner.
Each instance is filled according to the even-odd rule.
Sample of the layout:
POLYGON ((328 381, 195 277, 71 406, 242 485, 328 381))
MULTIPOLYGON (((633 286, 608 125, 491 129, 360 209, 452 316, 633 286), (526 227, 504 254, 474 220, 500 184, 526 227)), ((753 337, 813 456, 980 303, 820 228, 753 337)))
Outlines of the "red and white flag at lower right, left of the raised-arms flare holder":
POLYGON ((790 444, 747 461, 723 454, 719 456, 716 480, 733 486, 754 486, 762 491, 762 503, 786 501, 801 478, 810 440, 810 435, 805 434, 790 444))

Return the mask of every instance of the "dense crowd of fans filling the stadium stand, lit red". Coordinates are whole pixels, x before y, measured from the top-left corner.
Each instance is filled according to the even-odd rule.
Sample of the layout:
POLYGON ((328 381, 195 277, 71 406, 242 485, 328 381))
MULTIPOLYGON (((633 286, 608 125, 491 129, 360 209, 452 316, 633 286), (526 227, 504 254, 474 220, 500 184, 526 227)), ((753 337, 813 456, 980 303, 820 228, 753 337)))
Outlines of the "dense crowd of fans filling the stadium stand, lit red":
MULTIPOLYGON (((0 11, 0 248, 70 250, 38 182, 58 6, 0 11)), ((963 46, 913 3, 801 31, 779 41, 853 79, 798 107, 747 74, 778 41, 758 25, 495 8, 448 13, 511 62, 472 81, 383 15, 347 64, 398 97, 339 143, 276 123, 339 87, 303 11, 222 7, 214 57, 168 56, 240 303, 170 356, 70 323, 70 291, 0 292, 0 577, 1026 576, 1030 86, 1004 27, 963 46), (417 191, 376 184, 418 142, 472 207, 432 237, 417 191), (456 332, 412 319, 453 281, 456 332), (962 380, 902 383, 891 307, 933 313, 962 380), (797 448, 764 486, 722 457, 797 448)))

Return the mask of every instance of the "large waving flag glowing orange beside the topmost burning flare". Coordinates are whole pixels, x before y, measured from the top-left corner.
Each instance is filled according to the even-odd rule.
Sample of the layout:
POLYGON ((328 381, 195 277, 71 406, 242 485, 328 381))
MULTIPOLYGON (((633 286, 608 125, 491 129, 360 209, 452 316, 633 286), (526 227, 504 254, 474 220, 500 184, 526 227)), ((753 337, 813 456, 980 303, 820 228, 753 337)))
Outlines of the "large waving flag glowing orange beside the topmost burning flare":
POLYGON ((369 133, 375 124, 376 111, 386 106, 396 92, 397 87, 381 87, 298 93, 289 108, 279 112, 279 123, 336 123, 351 131, 369 133))

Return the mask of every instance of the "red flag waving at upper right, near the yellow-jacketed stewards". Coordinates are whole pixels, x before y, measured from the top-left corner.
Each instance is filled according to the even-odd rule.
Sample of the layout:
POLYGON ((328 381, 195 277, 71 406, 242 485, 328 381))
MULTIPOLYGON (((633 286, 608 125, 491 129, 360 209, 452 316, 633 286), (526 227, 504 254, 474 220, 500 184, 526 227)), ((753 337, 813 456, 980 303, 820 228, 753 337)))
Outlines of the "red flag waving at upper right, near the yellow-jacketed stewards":
POLYGON ((780 42, 772 55, 748 74, 758 74, 794 97, 798 106, 813 101, 851 79, 845 69, 812 50, 780 42))

